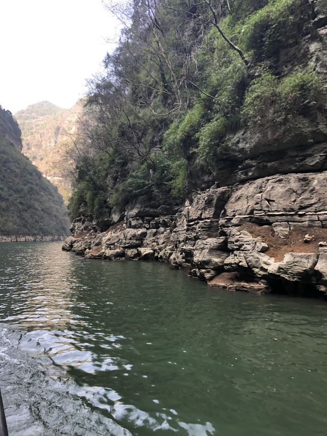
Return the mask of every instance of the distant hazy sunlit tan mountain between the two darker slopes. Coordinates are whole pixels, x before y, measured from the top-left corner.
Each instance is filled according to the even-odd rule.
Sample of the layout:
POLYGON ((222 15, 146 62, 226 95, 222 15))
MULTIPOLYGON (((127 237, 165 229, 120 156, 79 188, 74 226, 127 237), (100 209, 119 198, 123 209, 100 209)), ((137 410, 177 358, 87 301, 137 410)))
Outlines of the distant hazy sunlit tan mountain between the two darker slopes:
POLYGON ((28 106, 15 113, 22 134, 22 153, 48 178, 64 198, 71 195, 69 181, 62 177, 68 135, 76 129, 81 106, 63 109, 48 101, 28 106))

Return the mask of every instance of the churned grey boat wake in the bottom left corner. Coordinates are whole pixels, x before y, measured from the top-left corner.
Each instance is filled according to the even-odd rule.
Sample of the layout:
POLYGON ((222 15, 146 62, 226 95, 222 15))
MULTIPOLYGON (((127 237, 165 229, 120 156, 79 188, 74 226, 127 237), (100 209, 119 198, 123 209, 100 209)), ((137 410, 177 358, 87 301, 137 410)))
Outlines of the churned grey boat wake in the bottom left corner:
POLYGON ((86 404, 52 359, 20 350, 22 335, 0 324, 0 387, 11 436, 131 434, 86 404))

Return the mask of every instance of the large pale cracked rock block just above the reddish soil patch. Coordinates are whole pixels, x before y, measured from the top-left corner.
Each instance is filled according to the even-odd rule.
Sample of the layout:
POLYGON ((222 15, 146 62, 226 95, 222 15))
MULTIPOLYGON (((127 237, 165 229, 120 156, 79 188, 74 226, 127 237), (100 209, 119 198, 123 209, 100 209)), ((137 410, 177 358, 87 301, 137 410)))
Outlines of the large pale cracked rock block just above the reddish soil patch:
POLYGON ((264 177, 233 186, 225 205, 226 223, 327 224, 327 172, 264 177))

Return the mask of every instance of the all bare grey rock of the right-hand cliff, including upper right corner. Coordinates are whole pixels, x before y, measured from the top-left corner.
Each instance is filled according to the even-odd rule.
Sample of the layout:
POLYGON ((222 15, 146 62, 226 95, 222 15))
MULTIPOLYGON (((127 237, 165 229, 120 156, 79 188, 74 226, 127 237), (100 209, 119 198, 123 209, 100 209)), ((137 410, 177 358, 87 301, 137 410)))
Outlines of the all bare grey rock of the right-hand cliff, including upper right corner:
MULTIPOLYGON (((301 7, 300 38, 270 59, 281 86, 299 65, 326 79, 327 4, 301 7)), ((270 117, 276 100, 258 104, 256 119, 225 135, 210 170, 188 152, 183 204, 152 190, 101 217, 81 209, 63 249, 88 259, 168 262, 230 290, 327 294, 323 99, 319 110, 313 104, 286 122, 270 117)))

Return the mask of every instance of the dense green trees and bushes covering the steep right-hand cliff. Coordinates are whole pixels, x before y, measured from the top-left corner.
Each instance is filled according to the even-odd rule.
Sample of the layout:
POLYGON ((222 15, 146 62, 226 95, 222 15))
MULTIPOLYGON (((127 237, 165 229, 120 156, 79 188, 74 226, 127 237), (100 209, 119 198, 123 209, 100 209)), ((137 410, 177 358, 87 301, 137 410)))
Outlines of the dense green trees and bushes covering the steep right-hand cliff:
POLYGON ((90 82, 73 156, 72 217, 81 208, 101 214, 149 190, 179 201, 190 159, 214 171, 227 133, 264 116, 285 124, 323 110, 325 82, 305 59, 282 75, 276 68, 306 33, 305 0, 139 0, 108 8, 124 27, 106 73, 90 82))

